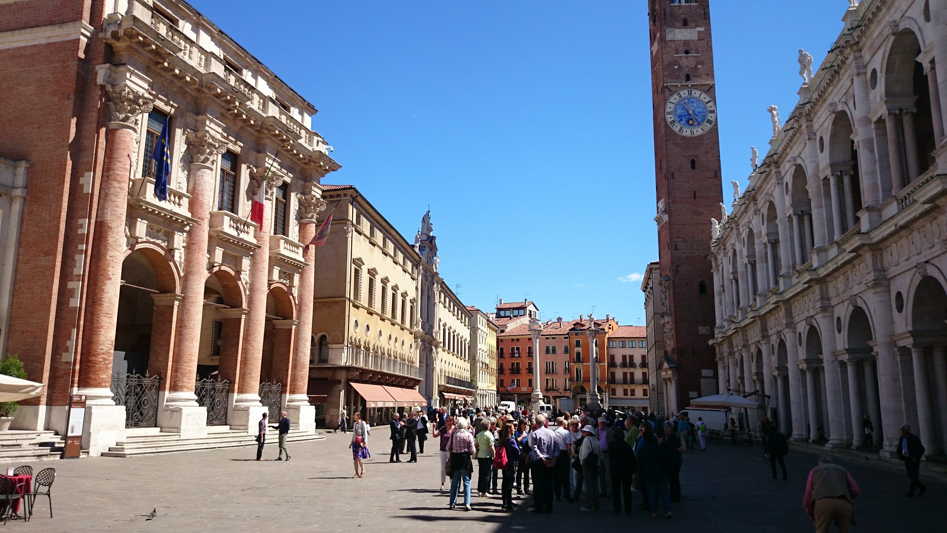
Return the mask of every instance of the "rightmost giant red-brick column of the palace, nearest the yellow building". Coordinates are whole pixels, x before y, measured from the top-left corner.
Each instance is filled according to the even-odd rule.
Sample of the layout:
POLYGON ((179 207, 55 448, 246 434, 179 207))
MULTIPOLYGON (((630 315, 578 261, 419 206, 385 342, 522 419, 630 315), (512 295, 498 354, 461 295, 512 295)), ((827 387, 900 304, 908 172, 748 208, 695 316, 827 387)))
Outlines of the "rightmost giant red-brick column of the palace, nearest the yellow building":
MULTIPOLYGON (((308 245, 315 236, 316 217, 319 211, 326 209, 326 202, 310 194, 299 196, 299 242, 308 245)), ((315 247, 309 247, 303 253, 306 267, 299 273, 299 286, 296 289, 298 323, 295 328, 293 344, 293 373, 290 377, 289 395, 286 396, 286 413, 290 421, 300 432, 315 431, 315 407, 310 405, 309 396, 309 358, 313 337, 313 290, 315 285, 315 247)))

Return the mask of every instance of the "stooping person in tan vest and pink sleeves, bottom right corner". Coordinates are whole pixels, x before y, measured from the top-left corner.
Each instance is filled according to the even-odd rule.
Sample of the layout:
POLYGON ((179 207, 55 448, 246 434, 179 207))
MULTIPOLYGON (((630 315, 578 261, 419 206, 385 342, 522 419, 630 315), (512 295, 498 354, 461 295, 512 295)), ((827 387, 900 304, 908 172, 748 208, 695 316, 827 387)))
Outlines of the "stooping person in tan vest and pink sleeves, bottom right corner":
POLYGON ((861 493, 849 470, 836 465, 830 457, 820 457, 819 465, 809 472, 802 500, 806 514, 815 524, 815 533, 829 533, 833 523, 840 533, 848 533, 849 525, 855 524, 851 501, 861 493))

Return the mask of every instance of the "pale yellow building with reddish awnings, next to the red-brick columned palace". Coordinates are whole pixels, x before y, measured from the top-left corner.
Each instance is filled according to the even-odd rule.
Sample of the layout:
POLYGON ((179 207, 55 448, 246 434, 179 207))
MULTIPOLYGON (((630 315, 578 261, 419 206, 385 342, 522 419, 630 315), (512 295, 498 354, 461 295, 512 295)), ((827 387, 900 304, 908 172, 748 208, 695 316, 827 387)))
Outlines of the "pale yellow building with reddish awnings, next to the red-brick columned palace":
POLYGON ((315 251, 309 395, 316 422, 336 427, 343 407, 372 425, 387 422, 394 409, 426 404, 414 339, 420 255, 353 186, 323 192, 332 225, 315 251))

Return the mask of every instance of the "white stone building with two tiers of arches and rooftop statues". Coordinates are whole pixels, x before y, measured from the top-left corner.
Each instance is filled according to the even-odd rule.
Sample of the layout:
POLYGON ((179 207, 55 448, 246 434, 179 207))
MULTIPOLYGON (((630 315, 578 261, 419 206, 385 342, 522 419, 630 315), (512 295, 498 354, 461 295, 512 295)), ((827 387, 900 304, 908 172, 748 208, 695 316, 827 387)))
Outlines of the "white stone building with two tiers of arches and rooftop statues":
MULTIPOLYGON (((864 0, 714 231, 720 389, 794 440, 947 448, 947 1, 864 0)), ((760 110, 761 112, 762 110, 760 110)), ((707 221, 714 226, 718 221, 707 221)), ((751 420, 752 423, 752 420, 751 420)))

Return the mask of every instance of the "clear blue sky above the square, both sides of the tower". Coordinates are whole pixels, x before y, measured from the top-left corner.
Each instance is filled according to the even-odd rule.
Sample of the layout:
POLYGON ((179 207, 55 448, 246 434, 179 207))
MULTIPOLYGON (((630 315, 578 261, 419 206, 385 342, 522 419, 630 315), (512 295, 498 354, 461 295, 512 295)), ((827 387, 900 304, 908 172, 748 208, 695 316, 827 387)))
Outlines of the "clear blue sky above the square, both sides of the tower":
MULTIPOLYGON (((647 4, 189 0, 319 113, 353 184, 413 242, 430 205, 464 303, 644 321, 657 259, 647 4)), ((724 183, 746 184, 845 0, 712 0, 724 183)), ((731 194, 729 185, 724 198, 731 194)), ((709 224, 709 221, 708 221, 709 224)))

